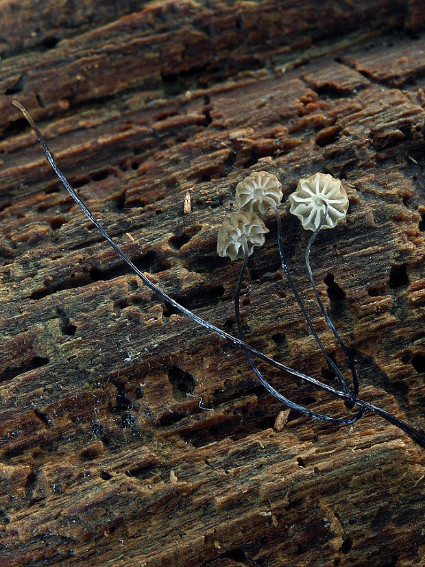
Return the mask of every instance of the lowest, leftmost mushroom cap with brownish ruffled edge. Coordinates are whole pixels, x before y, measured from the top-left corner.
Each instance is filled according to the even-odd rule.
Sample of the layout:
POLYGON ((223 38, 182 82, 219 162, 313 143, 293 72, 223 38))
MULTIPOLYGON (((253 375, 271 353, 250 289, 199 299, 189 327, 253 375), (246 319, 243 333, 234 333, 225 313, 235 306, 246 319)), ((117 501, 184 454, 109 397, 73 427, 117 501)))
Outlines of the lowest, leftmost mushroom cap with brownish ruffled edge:
POLYGON ((260 217, 254 213, 235 210, 220 227, 217 252, 219 256, 229 256, 232 262, 245 256, 245 248, 248 256, 251 256, 254 246, 263 246, 266 232, 269 230, 260 217))

